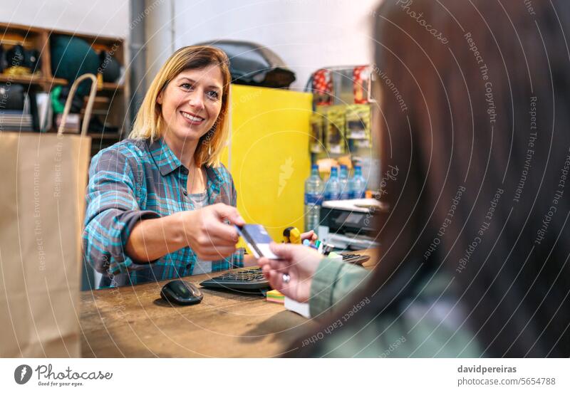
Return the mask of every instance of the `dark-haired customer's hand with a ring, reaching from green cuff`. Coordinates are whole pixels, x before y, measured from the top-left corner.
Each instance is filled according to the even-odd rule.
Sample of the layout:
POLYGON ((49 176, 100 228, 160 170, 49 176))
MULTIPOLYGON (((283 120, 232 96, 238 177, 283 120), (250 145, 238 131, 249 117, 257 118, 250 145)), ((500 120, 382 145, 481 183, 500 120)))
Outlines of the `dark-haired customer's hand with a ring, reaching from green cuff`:
POLYGON ((298 302, 309 301, 311 281, 323 256, 299 244, 271 243, 270 248, 279 259, 259 258, 257 263, 271 287, 298 302), (289 274, 289 283, 283 282, 284 274, 289 274))

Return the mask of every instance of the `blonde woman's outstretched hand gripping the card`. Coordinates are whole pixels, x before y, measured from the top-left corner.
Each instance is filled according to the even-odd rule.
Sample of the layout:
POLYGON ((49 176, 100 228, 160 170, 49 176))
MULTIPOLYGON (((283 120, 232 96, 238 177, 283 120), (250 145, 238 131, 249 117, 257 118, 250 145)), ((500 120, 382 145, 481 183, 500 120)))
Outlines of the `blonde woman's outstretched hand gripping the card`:
POLYGON ((182 228, 188 246, 199 258, 215 261, 236 251, 239 239, 231 224, 244 225, 237 209, 227 204, 213 204, 203 209, 184 211, 182 228))

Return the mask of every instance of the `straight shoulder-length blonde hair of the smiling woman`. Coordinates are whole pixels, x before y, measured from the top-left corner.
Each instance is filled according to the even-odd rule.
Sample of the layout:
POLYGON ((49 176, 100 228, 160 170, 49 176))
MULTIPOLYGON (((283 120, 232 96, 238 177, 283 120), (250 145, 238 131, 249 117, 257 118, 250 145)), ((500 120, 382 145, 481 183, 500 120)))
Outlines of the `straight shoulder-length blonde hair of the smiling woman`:
POLYGON ((133 130, 129 137, 134 139, 150 139, 154 142, 162 136, 164 119, 161 105, 157 98, 168 83, 184 70, 199 70, 207 66, 218 66, 222 71, 222 108, 214 122, 214 127, 200 137, 194 153, 197 165, 210 167, 219 165, 219 157, 229 135, 229 60, 224 51, 212 46, 185 46, 178 49, 162 65, 155 79, 148 88, 145 99, 138 110, 133 130))

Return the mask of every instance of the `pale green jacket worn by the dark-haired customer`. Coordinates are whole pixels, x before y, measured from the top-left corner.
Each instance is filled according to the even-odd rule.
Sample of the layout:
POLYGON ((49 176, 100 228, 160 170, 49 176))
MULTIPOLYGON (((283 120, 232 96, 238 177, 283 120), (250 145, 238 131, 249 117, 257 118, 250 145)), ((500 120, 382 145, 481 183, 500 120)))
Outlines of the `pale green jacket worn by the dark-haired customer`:
POLYGON ((343 310, 302 345, 318 345, 316 356, 326 357, 480 357, 482 350, 465 325, 465 312, 453 295, 446 273, 427 275, 406 301, 390 313, 371 310, 372 299, 354 299, 366 285, 368 271, 342 261, 323 259, 311 283, 311 317, 322 320, 343 310), (358 313, 366 318, 346 325, 358 313))

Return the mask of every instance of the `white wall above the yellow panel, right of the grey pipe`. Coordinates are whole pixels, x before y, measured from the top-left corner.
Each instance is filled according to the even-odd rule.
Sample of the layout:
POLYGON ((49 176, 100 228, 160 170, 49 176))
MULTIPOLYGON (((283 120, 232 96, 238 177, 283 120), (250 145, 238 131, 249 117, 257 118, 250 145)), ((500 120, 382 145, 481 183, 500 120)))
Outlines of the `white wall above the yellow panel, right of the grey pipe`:
POLYGON ((371 13, 378 0, 175 0, 175 46, 254 41, 294 70, 295 88, 323 66, 372 61, 371 13))

